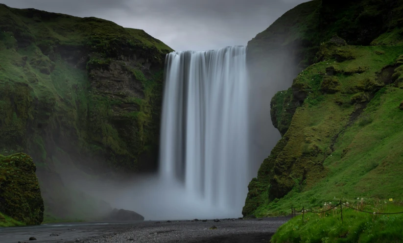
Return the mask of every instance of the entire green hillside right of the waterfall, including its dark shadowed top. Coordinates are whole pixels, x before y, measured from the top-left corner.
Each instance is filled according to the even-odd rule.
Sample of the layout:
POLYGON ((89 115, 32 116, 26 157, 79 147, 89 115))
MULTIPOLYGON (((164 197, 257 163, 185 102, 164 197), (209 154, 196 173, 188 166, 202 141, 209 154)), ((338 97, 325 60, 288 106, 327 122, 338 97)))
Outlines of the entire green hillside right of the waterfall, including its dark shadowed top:
POLYGON ((272 98, 282 139, 248 186, 244 216, 333 197, 399 198, 402 11, 399 0, 314 0, 250 41, 250 60, 269 60, 279 46, 296 57, 289 68, 304 70, 272 98))

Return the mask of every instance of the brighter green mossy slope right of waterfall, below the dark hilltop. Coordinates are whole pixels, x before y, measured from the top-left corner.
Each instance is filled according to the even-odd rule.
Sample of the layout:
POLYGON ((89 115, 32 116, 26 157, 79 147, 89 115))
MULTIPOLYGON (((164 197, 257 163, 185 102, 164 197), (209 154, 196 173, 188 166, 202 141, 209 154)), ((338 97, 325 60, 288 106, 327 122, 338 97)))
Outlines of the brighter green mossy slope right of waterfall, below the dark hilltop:
MULTIPOLYGON (((306 98, 249 184, 244 216, 288 215, 292 205, 316 207, 329 197, 403 199, 403 89, 378 80, 382 68, 394 65, 403 47, 338 48, 354 51, 356 59, 322 61, 294 79, 293 91, 306 98), (384 53, 378 55, 379 51, 384 53), (322 79, 330 66, 340 71, 333 76, 339 91, 324 94, 322 79), (366 71, 351 73, 359 67, 366 71), (374 97, 360 111, 365 106, 357 95, 374 97)), ((276 104, 272 109, 286 107, 276 104)))

